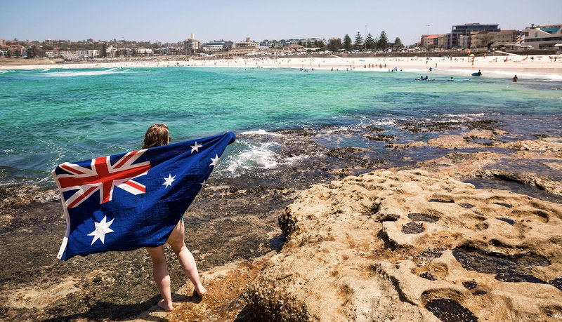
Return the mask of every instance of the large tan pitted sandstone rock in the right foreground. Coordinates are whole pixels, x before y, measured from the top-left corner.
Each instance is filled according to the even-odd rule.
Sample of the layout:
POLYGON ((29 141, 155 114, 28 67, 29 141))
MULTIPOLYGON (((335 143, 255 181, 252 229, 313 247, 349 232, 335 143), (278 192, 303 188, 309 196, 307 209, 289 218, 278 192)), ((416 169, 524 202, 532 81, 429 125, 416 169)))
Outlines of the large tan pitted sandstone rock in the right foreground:
POLYGON ((287 207, 279 222, 287 242, 246 292, 249 308, 258 317, 281 321, 562 318, 562 291, 556 288, 562 276, 558 203, 475 189, 422 170, 380 170, 311 187, 287 207), (417 218, 412 213, 431 218, 418 222, 424 232, 403 232, 411 217, 417 218), (463 249, 491 262, 541 260, 523 261, 526 267, 521 270, 466 263, 464 267, 453 255, 463 249), (496 278, 506 271, 524 271, 529 281, 544 283, 496 278), (431 279, 422 277, 430 275, 431 279), (466 282, 476 288, 466 288, 466 282))

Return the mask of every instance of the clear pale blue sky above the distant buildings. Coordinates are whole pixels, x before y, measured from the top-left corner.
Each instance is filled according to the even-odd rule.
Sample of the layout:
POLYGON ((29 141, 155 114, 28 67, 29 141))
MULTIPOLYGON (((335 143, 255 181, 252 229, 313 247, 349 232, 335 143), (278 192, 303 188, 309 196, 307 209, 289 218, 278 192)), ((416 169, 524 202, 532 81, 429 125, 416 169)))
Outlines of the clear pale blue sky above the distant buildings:
POLYGON ((207 42, 343 38, 366 33, 408 45, 479 22, 501 29, 562 24, 561 0, 11 1, 0 0, 0 38, 207 42))

